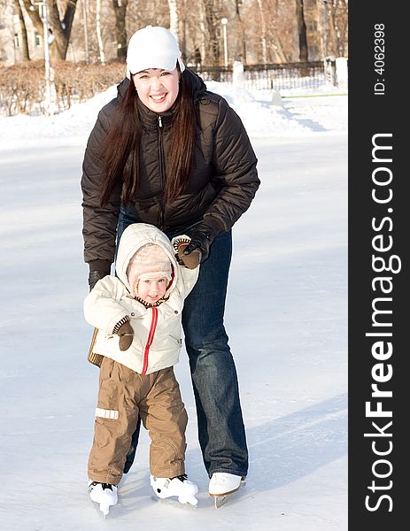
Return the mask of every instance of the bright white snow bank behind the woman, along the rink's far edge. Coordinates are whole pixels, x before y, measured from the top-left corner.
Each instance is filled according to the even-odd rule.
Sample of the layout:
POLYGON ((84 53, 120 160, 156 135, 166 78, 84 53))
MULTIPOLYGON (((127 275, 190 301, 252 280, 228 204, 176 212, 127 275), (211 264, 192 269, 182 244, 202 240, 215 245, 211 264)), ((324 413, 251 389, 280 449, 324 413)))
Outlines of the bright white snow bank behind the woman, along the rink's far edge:
MULTIPOLYGON (((228 100, 243 119, 251 138, 282 138, 347 128, 347 96, 331 94, 329 91, 334 88, 284 92, 280 107, 272 101, 272 90, 249 91, 217 81, 208 81, 206 85, 228 100), (323 96, 323 92, 329 96, 323 96)), ((50 117, 19 114, 0 118, 0 149, 35 145, 39 138, 53 145, 85 146, 98 111, 116 93, 116 86, 112 86, 88 102, 73 104, 68 111, 50 117)))

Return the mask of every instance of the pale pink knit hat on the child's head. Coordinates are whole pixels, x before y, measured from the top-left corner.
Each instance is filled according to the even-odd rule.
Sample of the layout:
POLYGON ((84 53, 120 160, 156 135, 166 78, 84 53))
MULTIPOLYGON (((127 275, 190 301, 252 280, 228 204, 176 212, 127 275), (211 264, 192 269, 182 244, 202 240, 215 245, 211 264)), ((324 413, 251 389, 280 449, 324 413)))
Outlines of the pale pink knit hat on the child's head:
POLYGON ((154 281, 165 277, 170 281, 172 278, 171 261, 159 245, 147 243, 129 260, 127 277, 131 289, 134 289, 141 280, 154 281))

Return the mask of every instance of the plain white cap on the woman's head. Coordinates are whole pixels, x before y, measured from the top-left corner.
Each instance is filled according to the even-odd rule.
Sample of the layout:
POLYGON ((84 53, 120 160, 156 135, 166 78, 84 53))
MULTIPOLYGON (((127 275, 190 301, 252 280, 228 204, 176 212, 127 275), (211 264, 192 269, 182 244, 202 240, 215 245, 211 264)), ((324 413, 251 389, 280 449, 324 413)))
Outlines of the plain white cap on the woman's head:
POLYGON ((174 70, 176 61, 183 72, 185 65, 181 60, 178 42, 165 27, 146 26, 136 31, 129 39, 127 50, 129 73, 138 73, 148 68, 174 70))

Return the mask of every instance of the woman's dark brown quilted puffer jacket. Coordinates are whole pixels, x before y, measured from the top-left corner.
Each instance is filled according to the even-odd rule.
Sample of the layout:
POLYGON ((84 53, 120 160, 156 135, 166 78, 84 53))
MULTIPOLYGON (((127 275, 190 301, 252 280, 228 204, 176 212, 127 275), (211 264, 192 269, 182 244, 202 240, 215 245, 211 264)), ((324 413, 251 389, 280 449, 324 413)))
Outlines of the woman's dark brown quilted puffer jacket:
MULTIPOLYGON (((134 204, 127 209, 144 223, 165 232, 205 221, 228 231, 247 210, 259 187, 257 158, 244 126, 227 101, 206 91, 205 83, 185 69, 185 79, 193 87, 198 104, 197 148, 194 174, 184 193, 172 204, 162 201, 164 165, 170 142, 172 112, 159 115, 144 105, 142 119, 146 134, 140 150, 140 178, 134 204)), ((109 273, 115 253, 115 234, 120 212, 120 187, 111 201, 101 207, 99 197, 104 161, 101 147, 121 96, 128 88, 122 81, 118 96, 99 112, 89 135, 82 165, 84 258, 91 271, 109 273)))

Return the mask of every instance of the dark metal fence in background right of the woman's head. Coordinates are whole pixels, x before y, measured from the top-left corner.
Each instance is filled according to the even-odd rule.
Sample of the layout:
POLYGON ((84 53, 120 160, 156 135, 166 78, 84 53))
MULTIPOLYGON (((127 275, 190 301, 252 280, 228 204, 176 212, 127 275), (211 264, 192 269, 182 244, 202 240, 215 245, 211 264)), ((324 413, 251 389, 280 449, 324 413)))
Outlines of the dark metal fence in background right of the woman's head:
MULTIPOLYGON (((190 66, 204 81, 233 81, 232 66, 190 66)), ((335 61, 285 63, 281 65, 244 65, 246 89, 314 89, 336 84, 335 61)))

